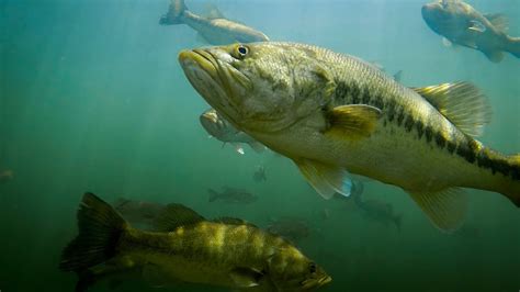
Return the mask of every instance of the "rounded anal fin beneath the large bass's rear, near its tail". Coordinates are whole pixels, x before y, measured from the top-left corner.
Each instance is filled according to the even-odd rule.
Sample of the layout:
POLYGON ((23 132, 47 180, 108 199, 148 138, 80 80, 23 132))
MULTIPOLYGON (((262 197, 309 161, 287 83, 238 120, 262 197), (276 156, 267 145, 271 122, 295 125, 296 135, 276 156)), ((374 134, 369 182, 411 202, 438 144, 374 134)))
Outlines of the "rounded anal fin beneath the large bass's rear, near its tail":
POLYGON ((451 188, 440 192, 410 193, 410 195, 439 229, 452 233, 464 223, 467 200, 461 189, 451 188))

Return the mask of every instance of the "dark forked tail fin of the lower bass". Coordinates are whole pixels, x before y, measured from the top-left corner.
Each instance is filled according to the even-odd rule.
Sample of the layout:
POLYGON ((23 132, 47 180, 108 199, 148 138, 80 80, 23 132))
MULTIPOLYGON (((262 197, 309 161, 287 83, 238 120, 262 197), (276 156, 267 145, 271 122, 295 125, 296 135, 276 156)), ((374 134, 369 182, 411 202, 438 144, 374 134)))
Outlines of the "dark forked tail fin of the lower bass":
POLYGON ((61 255, 59 269, 82 273, 115 256, 126 222, 108 203, 86 193, 78 211, 78 236, 61 255))

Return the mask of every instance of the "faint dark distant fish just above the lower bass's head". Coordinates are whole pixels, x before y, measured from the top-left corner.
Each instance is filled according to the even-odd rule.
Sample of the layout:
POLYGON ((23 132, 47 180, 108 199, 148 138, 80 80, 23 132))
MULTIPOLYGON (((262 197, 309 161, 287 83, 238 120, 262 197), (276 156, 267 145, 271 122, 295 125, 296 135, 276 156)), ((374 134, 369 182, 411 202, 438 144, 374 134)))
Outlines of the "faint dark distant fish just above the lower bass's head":
POLYGON ((268 232, 282 236, 293 243, 298 243, 310 234, 306 221, 289 216, 272 218, 268 226, 268 232))

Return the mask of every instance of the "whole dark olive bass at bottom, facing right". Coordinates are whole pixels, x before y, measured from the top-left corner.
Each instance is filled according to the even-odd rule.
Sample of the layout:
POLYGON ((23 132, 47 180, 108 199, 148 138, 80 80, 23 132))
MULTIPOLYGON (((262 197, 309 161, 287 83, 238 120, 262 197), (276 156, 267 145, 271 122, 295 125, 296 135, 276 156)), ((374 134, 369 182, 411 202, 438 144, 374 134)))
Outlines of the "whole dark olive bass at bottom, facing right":
POLYGON ((156 226, 161 232, 135 229, 112 206, 86 193, 78 211, 79 235, 65 248, 59 267, 80 276, 77 291, 124 272, 154 276, 156 283, 240 291, 313 291, 331 281, 290 243, 240 220, 207 221, 170 204, 156 226))

